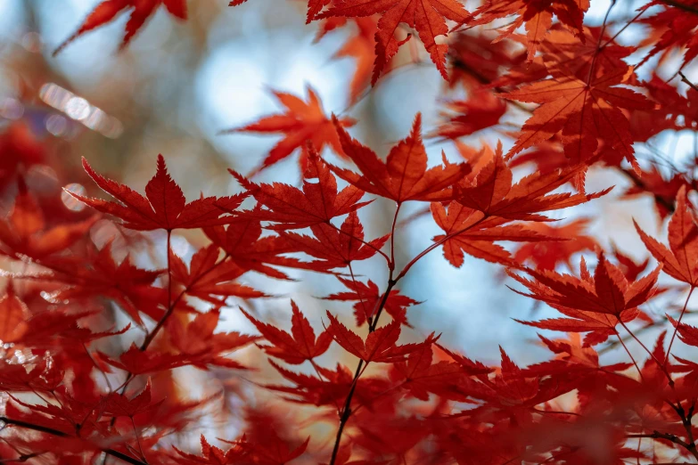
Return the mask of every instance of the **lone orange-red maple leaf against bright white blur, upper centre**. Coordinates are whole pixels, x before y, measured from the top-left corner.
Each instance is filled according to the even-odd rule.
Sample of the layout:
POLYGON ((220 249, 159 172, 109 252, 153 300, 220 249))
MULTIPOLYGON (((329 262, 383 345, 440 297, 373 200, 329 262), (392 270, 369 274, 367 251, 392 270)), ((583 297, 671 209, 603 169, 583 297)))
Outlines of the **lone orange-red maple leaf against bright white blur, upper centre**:
MULTIPOLYGON (((333 128, 333 122, 324 114, 322 102, 315 91, 308 86, 308 102, 299 97, 283 92, 272 91, 276 100, 281 102, 286 111, 259 119, 247 126, 226 129, 222 134, 232 133, 282 133, 283 139, 269 151, 261 165, 250 173, 250 177, 258 174, 267 167, 285 159, 296 149, 303 151, 301 162, 308 157, 307 145, 312 144, 317 151, 322 151, 327 145, 341 155, 340 141, 333 128)), ((356 121, 352 118, 338 120, 341 126, 353 126, 356 121)), ((301 167, 304 163, 301 163, 301 167)))

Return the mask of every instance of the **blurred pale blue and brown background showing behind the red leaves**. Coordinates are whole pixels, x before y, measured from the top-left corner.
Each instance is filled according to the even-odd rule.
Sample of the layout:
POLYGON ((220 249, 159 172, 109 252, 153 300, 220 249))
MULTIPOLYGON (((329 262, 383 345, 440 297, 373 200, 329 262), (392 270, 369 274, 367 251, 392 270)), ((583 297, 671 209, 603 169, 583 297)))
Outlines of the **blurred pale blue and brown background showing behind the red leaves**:
MULTIPOLYGON (((81 157, 97 171, 142 192, 154 172, 158 153, 165 156, 171 174, 190 200, 201 191, 217 195, 237 192, 240 188, 226 168, 250 172, 279 137, 218 133, 279 110, 270 89, 305 97, 307 86, 311 86, 328 113, 357 118, 352 135, 382 155, 407 134, 417 111, 423 112, 425 132, 439 121, 439 99, 446 85, 416 41, 413 50, 406 52, 412 53, 409 60, 413 63, 392 71, 357 104, 349 105, 349 82, 356 63, 333 55, 350 30, 333 31, 316 42, 317 25, 305 24, 303 2, 250 0, 231 8, 223 0, 190 1, 186 21, 160 9, 127 49, 118 53, 127 21, 127 15, 122 15, 52 57, 53 48, 69 37, 98 3, 0 0, 2 130, 21 122, 31 137, 48 143, 59 159, 56 166, 73 177, 70 189, 78 192, 94 192, 94 186, 79 171, 81 157)), ((467 6, 472 10, 476 5, 467 6)), ((605 0, 593 2, 587 22, 600 24, 607 6, 605 0)), ((613 13, 628 17, 633 5, 619 5, 613 13)), ((623 37, 632 37, 633 30, 628 29, 623 37)), ((506 118, 517 124, 522 121, 522 115, 506 118)), ((485 131, 468 141, 479 147, 480 140, 496 143, 499 137, 485 131)), ((694 153, 694 139, 690 135, 661 135, 653 147, 678 163, 694 153)), ((433 163, 439 160, 441 150, 449 159, 457 159, 450 143, 427 141, 427 148, 433 163)), ((641 160, 649 153, 643 150, 638 150, 641 160)), ((255 180, 299 184, 297 158, 295 154, 255 180)), ((60 189, 59 177, 64 179, 41 164, 28 173, 29 182, 43 192, 60 189)), ((628 180, 612 172, 595 171, 589 176, 587 189, 595 191, 614 184, 618 186, 614 192, 621 192, 628 180)), ((646 231, 661 235, 652 201, 620 202, 616 197, 612 193, 576 208, 574 215, 591 217, 588 230, 602 245, 613 242, 625 253, 644 258, 631 220, 636 217, 646 231)), ((409 207, 402 217, 420 208, 409 207)), ((66 196, 64 205, 56 208, 80 206, 66 196)), ((378 202, 362 210, 368 237, 390 229, 392 208, 389 202, 378 202)), ((561 212, 558 217, 572 216, 571 212, 561 212)), ((431 237, 438 233, 428 218, 400 229, 398 267, 429 246, 431 237)), ((160 241, 161 237, 155 234, 154 239, 160 241)), ((177 253, 186 255, 203 242, 201 236, 182 232, 173 243, 177 253)), ((157 262, 163 257, 135 259, 157 262)), ((386 271, 379 261, 362 263, 357 273, 369 276, 381 287, 385 285, 386 271)), ((256 310, 260 314, 285 321, 289 297, 314 316, 316 325, 321 324, 324 308, 351 311, 349 305, 316 298, 340 290, 333 277, 300 271, 292 272, 292 277, 299 281, 248 278, 255 287, 284 296, 259 303, 256 310)), ((491 363, 497 361, 497 346, 503 344, 517 363, 530 363, 542 354, 542 349, 531 344, 536 330, 512 318, 538 319, 547 310, 507 289, 507 282, 512 284, 505 280, 500 266, 466 257, 464 265, 455 269, 440 250, 435 250, 410 272, 401 291, 423 301, 408 314, 417 333, 441 332, 441 341, 448 346, 491 363)), ((662 309, 657 312, 663 314, 662 309)), ((226 313, 226 325, 250 329, 234 311, 226 313)))

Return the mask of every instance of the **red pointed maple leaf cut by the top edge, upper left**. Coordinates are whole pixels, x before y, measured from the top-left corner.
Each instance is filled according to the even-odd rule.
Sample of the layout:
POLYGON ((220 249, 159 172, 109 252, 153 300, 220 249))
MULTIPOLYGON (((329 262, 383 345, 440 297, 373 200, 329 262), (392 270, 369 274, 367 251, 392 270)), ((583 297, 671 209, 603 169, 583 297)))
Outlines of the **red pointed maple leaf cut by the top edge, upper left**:
POLYGON ((186 20, 186 0, 104 0, 87 15, 87 18, 77 31, 53 50, 53 56, 61 53, 63 48, 86 32, 101 28, 103 25, 116 19, 121 12, 133 9, 128 15, 126 33, 121 41, 121 45, 119 45, 119 50, 123 49, 161 4, 165 5, 165 8, 172 16, 180 20, 186 20))

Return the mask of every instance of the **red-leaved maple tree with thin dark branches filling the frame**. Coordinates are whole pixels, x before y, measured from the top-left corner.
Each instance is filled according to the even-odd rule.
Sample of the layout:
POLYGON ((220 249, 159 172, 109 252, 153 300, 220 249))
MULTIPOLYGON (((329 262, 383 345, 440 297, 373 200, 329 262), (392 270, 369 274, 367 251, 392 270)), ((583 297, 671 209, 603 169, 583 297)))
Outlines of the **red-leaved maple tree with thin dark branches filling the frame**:
MULTIPOLYGON (((54 172, 90 194, 46 200, 29 168, 64 162, 22 117, 3 127, 0 462, 698 462, 698 146, 670 169, 645 156, 666 132, 698 140, 698 3, 618 20, 613 0, 598 22, 587 0, 289 1, 316 41, 347 29, 332 58, 354 61, 349 107, 272 90, 283 109, 219 134, 280 137, 250 173, 222 170, 238 193, 187 201, 167 154, 139 193, 90 155, 86 176, 54 172), (439 121, 409 115, 383 157, 353 110, 420 61, 444 77, 439 121), (630 251, 593 208, 636 197, 652 208, 630 251), (406 237, 420 251, 399 250, 406 237), (524 366, 502 340, 474 360, 416 321, 431 304, 406 278, 437 249, 452 273, 489 262, 493 293, 545 306, 514 319, 546 355, 524 366), (313 275, 319 314, 281 286, 313 275), (250 334, 221 330, 234 317, 250 334), (217 395, 186 392, 201 371, 217 395)), ((156 12, 185 25, 193 4, 97 2, 53 54, 121 15, 125 50, 156 12)))

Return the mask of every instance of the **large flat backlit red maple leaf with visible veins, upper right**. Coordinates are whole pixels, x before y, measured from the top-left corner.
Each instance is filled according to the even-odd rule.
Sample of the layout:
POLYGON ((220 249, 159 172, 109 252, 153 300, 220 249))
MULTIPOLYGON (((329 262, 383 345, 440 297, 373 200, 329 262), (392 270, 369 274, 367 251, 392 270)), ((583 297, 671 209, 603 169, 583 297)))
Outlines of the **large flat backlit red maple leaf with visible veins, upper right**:
POLYGON ((643 94, 618 87, 628 83, 633 73, 626 66, 585 81, 564 70, 554 70, 550 79, 500 94, 508 100, 541 104, 526 120, 507 157, 562 131, 564 152, 572 164, 590 159, 601 139, 638 170, 628 118, 620 108, 652 110, 654 104, 643 94))

